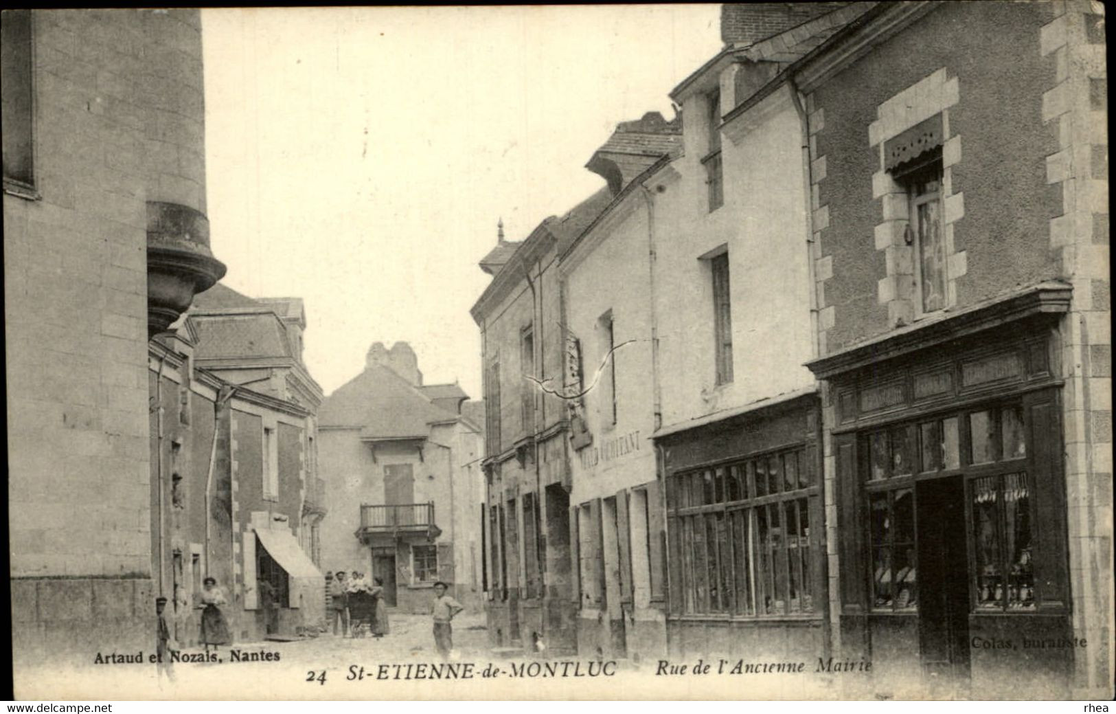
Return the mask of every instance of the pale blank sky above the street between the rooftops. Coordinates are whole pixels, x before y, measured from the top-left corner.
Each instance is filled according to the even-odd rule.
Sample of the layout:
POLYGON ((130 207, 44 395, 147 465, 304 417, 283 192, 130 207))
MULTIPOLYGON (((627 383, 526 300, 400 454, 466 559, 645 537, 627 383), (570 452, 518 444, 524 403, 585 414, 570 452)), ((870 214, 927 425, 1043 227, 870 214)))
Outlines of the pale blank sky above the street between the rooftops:
POLYGON ((720 6, 205 9, 206 213, 224 284, 301 297, 328 394, 374 342, 481 397, 469 314, 521 240, 604 185, 618 122, 721 48, 720 6))

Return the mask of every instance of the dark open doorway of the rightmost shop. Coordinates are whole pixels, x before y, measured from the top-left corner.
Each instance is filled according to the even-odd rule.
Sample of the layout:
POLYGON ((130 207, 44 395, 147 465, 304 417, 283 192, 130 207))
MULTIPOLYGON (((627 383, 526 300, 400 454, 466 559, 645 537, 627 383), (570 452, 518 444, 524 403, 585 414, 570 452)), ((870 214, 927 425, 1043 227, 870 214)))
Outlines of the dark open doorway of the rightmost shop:
POLYGON ((964 480, 922 482, 917 503, 922 666, 931 686, 953 687, 969 677, 964 480))

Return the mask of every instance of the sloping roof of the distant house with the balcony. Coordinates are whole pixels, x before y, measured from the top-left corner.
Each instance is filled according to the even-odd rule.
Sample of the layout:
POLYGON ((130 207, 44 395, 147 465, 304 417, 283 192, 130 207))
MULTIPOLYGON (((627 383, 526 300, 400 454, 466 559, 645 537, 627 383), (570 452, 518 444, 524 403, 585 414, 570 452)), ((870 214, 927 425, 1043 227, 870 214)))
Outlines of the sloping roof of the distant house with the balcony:
POLYGON ((456 416, 434 404, 423 388, 373 364, 321 402, 318 426, 359 427, 367 439, 425 438, 431 423, 456 416))

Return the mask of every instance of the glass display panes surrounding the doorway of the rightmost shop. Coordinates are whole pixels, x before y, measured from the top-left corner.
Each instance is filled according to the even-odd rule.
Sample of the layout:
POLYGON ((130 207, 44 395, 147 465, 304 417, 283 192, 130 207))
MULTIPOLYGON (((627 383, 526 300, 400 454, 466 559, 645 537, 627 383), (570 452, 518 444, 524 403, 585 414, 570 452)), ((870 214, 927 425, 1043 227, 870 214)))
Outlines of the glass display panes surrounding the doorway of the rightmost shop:
POLYGON ((862 434, 874 611, 917 611, 916 484, 956 475, 965 479, 973 610, 1035 608, 1026 434, 1019 404, 982 407, 862 434))

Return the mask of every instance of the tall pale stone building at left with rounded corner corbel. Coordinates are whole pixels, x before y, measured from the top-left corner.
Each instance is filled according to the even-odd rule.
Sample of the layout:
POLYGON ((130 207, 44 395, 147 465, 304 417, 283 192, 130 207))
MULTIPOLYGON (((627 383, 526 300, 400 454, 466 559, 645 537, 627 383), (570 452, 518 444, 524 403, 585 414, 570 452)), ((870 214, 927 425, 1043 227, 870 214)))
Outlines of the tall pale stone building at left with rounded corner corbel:
POLYGON ((150 334, 224 273, 205 220, 196 10, 6 10, 13 656, 146 647, 150 334), (75 516, 75 514, 80 514, 75 516))

